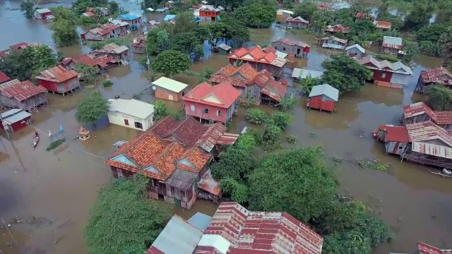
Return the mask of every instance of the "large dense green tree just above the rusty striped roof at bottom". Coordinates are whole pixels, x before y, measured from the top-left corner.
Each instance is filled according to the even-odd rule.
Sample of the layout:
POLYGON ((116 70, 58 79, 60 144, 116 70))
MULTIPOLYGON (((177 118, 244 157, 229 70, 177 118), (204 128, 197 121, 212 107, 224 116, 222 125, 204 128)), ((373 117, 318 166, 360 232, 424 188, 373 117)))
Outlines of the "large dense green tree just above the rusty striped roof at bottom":
POLYGON ((320 216, 338 186, 321 147, 283 150, 264 157, 250 183, 250 210, 285 211, 302 222, 320 216))

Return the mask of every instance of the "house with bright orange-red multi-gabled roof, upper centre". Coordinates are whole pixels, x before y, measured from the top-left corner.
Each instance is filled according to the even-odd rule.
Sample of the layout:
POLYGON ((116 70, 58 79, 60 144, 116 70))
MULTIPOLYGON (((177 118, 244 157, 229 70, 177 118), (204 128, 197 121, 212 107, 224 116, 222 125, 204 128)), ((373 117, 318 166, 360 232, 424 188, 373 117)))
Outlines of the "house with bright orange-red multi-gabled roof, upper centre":
POLYGON ((287 63, 287 59, 282 59, 276 55, 273 47, 262 49, 258 45, 251 49, 241 47, 235 52, 232 52, 227 58, 230 64, 235 66, 242 63, 249 63, 257 71, 270 71, 275 78, 280 78, 283 75, 283 70, 287 63))

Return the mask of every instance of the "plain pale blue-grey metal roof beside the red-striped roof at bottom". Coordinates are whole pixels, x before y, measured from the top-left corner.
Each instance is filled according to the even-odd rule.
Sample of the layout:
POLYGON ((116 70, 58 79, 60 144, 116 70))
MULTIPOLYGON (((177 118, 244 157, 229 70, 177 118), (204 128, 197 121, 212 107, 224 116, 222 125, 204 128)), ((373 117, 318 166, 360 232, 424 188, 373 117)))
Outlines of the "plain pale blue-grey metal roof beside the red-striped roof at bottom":
POLYGON ((181 217, 173 215, 146 253, 191 254, 201 236, 203 236, 203 232, 200 229, 192 226, 181 217), (153 251, 153 248, 160 250, 160 252, 153 251))

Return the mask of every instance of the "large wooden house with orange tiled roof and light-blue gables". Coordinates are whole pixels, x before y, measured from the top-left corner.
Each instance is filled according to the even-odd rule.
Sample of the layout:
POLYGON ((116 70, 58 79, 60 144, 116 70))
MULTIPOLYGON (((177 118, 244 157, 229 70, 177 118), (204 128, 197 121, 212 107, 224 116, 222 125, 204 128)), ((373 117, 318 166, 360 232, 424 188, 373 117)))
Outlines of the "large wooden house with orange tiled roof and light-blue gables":
POLYGON ((150 198, 190 209, 197 198, 196 183, 208 170, 211 159, 199 147, 184 148, 179 142, 164 140, 148 130, 121 145, 105 164, 110 166, 114 178, 136 173, 147 176, 150 198))

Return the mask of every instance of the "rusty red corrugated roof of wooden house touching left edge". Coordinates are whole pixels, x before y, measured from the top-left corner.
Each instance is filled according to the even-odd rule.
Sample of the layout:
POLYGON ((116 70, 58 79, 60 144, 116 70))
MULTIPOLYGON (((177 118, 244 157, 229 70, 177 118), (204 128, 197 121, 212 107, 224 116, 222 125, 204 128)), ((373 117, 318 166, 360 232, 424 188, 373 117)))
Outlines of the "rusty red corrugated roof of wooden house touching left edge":
POLYGON ((42 92, 47 92, 47 90, 40 85, 33 85, 29 80, 22 82, 11 80, 0 85, 1 94, 8 98, 15 98, 20 102, 42 92))

